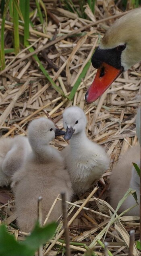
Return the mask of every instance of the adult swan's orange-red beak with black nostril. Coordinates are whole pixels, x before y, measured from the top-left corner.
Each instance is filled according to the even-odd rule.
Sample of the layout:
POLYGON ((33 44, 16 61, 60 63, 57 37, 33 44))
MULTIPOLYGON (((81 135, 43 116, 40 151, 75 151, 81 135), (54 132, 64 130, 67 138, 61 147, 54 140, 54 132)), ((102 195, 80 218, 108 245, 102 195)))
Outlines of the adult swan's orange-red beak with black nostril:
POLYGON ((88 104, 98 99, 104 91, 120 75, 122 70, 116 69, 105 62, 102 62, 98 68, 95 79, 85 94, 85 100, 88 104))

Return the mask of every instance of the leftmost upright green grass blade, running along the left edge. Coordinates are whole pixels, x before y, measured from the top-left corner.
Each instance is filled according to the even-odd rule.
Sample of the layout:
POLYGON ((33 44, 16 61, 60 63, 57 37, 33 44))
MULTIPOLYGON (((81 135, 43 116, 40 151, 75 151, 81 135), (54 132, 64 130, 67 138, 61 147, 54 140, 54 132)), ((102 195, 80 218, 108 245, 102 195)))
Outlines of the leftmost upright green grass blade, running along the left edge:
POLYGON ((4 6, 4 12, 2 16, 2 25, 1 25, 1 39, 0 39, 0 70, 4 70, 5 68, 5 55, 4 55, 4 25, 5 25, 5 17, 8 9, 8 4, 10 0, 7 0, 4 6))

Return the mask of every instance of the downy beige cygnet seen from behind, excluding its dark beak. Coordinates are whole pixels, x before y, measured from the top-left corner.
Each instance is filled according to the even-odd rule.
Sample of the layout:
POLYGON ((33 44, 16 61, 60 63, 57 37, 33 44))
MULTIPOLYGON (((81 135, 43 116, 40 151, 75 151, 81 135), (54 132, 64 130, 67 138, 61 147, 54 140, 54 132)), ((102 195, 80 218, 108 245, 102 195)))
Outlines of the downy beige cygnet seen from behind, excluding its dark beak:
MULTIPOLYGON (((59 193, 65 192, 67 201, 73 194, 60 152, 49 145, 55 138, 55 131, 54 123, 47 118, 39 118, 30 123, 28 138, 33 152, 12 178, 17 222, 20 230, 25 232, 30 232, 37 220, 39 196, 42 197, 44 222, 59 193)), ((57 220, 61 213, 61 201, 58 201, 48 221, 57 220)))

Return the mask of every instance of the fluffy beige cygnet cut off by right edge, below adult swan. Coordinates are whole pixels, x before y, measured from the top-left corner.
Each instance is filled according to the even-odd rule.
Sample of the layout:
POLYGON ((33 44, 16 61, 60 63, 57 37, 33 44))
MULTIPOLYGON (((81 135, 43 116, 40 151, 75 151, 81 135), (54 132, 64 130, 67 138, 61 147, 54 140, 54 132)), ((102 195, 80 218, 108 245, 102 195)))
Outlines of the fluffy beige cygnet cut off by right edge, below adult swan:
MULTIPOLYGON (((118 163, 112 170, 110 178, 110 203, 116 209, 118 202, 129 188, 136 190, 139 203, 140 195, 140 178, 132 163, 137 163, 140 167, 141 147, 133 146, 127 150, 118 160, 118 163)), ((129 207, 136 204, 133 195, 130 195, 124 203, 122 203, 119 212, 123 212, 129 207)), ((127 216, 139 216, 140 204, 126 213, 127 216)))

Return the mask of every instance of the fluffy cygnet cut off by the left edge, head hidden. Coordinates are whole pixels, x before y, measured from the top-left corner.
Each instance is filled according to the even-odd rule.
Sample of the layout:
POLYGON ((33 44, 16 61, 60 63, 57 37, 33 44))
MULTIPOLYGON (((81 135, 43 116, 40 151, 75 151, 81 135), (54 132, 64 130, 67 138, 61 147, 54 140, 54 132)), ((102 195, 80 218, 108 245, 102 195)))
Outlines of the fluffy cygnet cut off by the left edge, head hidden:
POLYGON ((21 168, 30 151, 24 136, 0 138, 0 186, 8 186, 12 174, 21 168))

